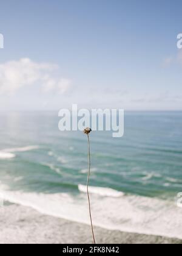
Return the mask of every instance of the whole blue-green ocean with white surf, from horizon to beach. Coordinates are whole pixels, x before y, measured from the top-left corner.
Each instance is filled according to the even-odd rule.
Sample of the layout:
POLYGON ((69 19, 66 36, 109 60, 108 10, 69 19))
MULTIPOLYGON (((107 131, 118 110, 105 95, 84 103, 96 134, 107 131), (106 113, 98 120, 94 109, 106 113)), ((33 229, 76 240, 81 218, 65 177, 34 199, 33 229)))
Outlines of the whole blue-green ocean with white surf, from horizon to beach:
MULTIPOLYGON (((0 117, 1 198, 89 224, 86 135, 60 132, 57 112, 0 117)), ((90 146, 93 224, 182 238, 182 112, 126 112, 122 138, 90 146)))

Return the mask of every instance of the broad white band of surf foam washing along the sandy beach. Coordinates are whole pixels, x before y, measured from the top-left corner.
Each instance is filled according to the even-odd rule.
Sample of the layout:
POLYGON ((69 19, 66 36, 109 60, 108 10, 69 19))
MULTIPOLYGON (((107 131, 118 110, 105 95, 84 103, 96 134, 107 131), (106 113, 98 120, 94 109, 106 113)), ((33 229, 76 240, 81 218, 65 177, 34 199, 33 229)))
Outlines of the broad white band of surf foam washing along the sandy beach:
MULTIPOLYGON (((69 194, 1 191, 7 201, 32 207, 41 213, 89 224, 87 195, 80 200, 69 194)), ((163 235, 182 239, 182 208, 174 202, 143 196, 101 197, 92 194, 95 226, 110 230, 163 235)))

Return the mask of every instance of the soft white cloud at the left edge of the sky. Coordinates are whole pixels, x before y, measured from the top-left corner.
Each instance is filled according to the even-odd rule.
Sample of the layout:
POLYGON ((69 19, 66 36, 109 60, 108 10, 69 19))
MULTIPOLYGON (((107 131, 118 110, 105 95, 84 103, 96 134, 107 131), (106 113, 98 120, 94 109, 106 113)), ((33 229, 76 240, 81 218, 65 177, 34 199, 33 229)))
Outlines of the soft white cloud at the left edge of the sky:
POLYGON ((71 80, 55 76, 56 69, 58 66, 52 63, 36 63, 30 59, 0 64, 0 94, 12 94, 22 87, 36 83, 44 92, 55 90, 65 93, 71 80))

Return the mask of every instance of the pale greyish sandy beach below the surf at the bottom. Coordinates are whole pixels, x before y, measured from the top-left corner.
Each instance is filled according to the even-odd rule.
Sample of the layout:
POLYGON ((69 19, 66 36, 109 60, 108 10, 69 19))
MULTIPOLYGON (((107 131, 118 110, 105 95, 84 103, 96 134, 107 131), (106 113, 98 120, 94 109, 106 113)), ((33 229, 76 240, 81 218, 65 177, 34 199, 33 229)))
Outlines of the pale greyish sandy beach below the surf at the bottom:
MULTIPOLYGON (((1 244, 92 243, 90 227, 78 222, 42 215, 21 205, 0 208, 1 244)), ((95 227, 96 243, 181 244, 182 240, 163 236, 141 235, 95 227)))

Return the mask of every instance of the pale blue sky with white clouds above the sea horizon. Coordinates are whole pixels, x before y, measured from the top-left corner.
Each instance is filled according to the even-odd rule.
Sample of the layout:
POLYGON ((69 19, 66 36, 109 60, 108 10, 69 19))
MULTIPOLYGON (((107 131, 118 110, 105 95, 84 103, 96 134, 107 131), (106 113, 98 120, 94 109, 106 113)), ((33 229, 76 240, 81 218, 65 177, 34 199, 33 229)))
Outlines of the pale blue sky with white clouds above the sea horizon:
POLYGON ((181 0, 1 1, 1 111, 182 110, 181 0))

